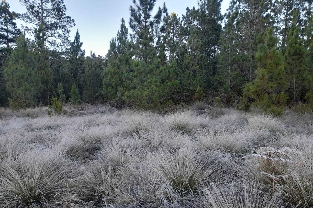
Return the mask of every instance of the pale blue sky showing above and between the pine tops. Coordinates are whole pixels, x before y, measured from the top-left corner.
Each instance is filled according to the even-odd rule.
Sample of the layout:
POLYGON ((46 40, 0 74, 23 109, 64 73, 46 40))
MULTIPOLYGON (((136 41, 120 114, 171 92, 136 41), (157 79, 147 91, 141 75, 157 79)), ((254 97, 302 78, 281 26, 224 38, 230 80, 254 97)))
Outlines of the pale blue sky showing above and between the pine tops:
MULTIPOLYGON (((26 11, 19 0, 7 0, 10 10, 23 13, 26 11)), ((156 1, 155 10, 162 7, 164 0, 156 1)), ((224 14, 228 8, 230 0, 223 0, 221 13, 224 14)), ((120 28, 121 18, 129 22, 129 6, 132 0, 64 0, 67 8, 66 15, 75 20, 75 27, 71 28, 70 39, 74 39, 76 30, 80 32, 80 40, 83 42, 82 48, 86 50, 86 55, 90 50, 96 55, 105 56, 109 50, 110 40, 116 37, 120 28)), ((186 8, 198 8, 198 0, 165 0, 168 13, 175 12, 179 17, 186 13, 186 8)), ((156 13, 153 12, 153 13, 156 13)), ((17 20, 18 26, 23 24, 17 20)), ((129 29, 129 32, 131 30, 129 29)))

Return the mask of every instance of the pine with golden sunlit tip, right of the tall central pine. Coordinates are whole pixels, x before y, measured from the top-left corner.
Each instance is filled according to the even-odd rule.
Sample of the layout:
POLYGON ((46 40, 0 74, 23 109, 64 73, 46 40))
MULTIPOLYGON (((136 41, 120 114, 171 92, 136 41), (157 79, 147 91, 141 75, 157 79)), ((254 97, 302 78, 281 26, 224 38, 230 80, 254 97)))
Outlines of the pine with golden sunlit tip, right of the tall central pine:
MULTIPOLYGON (((186 13, 189 15, 192 13, 190 11, 195 10, 187 8, 186 13)), ((188 24, 182 24, 184 21, 173 12, 167 22, 166 48, 169 60, 167 65, 164 66, 168 74, 164 76, 167 77, 165 82, 168 83, 166 92, 169 94, 169 100, 172 100, 175 104, 190 102, 197 89, 200 89, 199 82, 193 83, 199 73, 197 60, 200 54, 197 52, 199 49, 197 46, 200 40, 195 34, 187 37, 190 32, 189 28, 193 27, 192 21, 189 22, 190 18, 190 16, 183 16, 183 20, 187 20, 188 24)), ((193 30, 193 32, 195 31, 193 30)), ((204 77, 205 75, 203 75, 204 77)), ((162 86, 166 87, 167 85, 163 84, 162 86)), ((204 85, 204 82, 202 82, 200 90, 203 90, 204 85)))

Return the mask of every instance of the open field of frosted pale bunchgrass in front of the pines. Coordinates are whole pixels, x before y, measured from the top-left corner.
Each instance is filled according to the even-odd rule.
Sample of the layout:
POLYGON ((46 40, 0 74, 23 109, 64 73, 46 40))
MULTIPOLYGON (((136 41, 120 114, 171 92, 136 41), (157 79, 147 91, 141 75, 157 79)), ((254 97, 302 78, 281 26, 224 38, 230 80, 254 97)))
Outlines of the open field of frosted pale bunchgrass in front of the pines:
POLYGON ((313 115, 0 110, 0 207, 313 206, 313 115))

